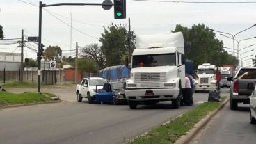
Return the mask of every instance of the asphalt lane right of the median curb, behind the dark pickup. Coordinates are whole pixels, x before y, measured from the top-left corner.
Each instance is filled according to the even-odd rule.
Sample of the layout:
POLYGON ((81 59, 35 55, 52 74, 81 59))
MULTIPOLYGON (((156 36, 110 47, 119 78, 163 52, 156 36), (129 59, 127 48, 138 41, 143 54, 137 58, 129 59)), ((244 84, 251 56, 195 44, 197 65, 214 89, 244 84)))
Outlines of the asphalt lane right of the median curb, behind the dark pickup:
POLYGON ((227 103, 191 144, 255 144, 255 134, 256 125, 250 124, 249 104, 239 104, 239 109, 232 111, 227 103))

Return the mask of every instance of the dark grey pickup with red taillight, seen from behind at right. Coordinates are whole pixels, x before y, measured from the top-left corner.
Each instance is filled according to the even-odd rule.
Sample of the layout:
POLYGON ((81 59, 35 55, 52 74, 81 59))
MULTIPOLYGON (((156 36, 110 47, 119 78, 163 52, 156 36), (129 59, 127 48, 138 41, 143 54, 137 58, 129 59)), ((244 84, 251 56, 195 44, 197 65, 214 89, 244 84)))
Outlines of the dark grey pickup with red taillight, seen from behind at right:
POLYGON ((249 104, 250 95, 255 87, 256 67, 241 67, 234 78, 229 77, 232 82, 230 87, 230 109, 237 109, 237 103, 249 104))

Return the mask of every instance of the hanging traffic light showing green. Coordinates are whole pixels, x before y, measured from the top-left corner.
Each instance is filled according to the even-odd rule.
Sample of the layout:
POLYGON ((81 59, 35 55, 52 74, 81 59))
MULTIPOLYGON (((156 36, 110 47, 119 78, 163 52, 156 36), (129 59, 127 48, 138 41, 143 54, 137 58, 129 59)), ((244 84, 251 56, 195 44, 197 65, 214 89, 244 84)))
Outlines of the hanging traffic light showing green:
POLYGON ((114 0, 115 19, 125 19, 126 17, 126 0, 114 0))

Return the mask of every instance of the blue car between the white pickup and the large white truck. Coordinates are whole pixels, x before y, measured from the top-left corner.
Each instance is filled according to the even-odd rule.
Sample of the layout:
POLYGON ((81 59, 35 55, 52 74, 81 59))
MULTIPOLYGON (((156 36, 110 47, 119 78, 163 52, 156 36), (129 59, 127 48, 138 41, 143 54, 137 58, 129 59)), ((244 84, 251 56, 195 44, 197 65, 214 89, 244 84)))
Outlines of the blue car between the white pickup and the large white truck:
POLYGON ((125 82, 105 83, 102 90, 97 92, 95 100, 100 103, 127 103, 127 99, 125 97, 125 82))

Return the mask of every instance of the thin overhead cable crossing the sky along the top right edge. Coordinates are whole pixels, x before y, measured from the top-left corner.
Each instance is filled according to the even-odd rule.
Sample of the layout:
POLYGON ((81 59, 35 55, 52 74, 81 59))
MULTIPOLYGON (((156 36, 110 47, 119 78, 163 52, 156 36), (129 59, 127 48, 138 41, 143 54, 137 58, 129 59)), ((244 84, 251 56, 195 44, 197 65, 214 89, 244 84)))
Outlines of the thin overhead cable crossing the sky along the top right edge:
POLYGON ((161 3, 256 3, 256 1, 162 1, 162 0, 133 0, 161 3))

